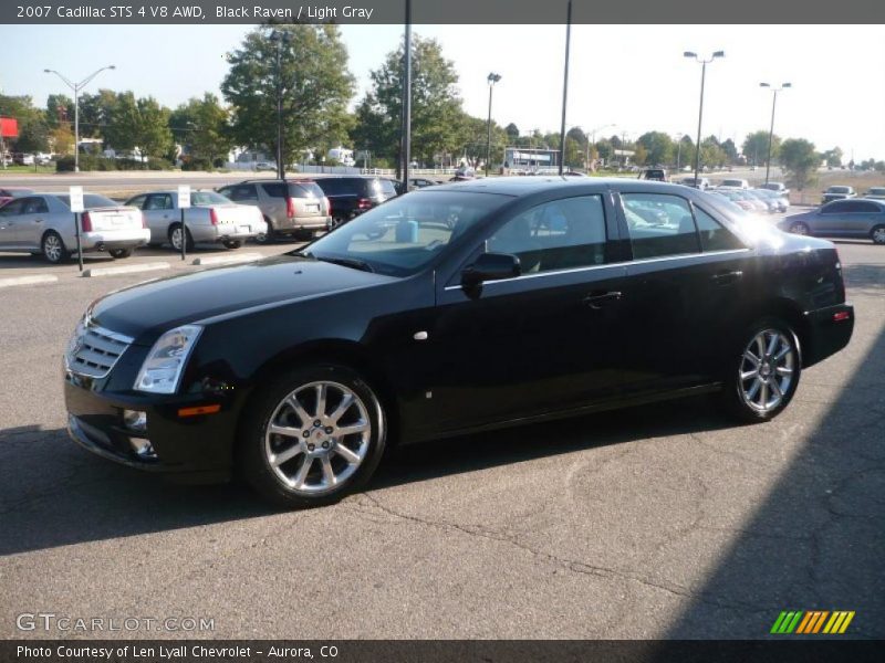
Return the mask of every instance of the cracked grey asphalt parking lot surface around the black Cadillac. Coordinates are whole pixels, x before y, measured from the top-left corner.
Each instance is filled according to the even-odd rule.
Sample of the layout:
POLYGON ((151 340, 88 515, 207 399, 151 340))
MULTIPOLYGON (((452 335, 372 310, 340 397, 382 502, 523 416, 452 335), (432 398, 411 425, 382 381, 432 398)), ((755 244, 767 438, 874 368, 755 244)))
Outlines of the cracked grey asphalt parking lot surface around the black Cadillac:
POLYGON ((0 276, 61 277, 0 290, 0 638, 148 635, 17 629, 44 612, 214 620, 162 636, 753 639, 788 609, 853 610, 850 635, 883 638, 885 250, 839 248, 854 338, 771 423, 697 399, 420 445, 292 513, 69 441, 71 329, 156 274, 2 255, 0 276))

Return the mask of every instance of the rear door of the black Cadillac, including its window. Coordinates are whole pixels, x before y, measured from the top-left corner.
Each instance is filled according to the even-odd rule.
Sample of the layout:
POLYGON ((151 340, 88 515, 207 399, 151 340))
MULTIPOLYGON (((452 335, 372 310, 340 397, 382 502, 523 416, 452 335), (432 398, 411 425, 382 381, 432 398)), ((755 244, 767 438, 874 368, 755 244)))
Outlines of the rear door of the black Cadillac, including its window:
POLYGON ((716 379, 736 303, 753 287, 746 264, 751 252, 687 197, 624 190, 620 200, 633 254, 622 309, 626 389, 669 390, 716 379), (660 212, 653 223, 639 213, 649 207, 660 212))

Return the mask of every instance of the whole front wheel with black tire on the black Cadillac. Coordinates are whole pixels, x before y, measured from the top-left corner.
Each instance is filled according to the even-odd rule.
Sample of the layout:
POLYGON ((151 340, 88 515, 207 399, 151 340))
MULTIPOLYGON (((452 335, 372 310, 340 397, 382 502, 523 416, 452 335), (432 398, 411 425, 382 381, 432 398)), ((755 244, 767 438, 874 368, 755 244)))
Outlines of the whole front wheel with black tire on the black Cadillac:
MULTIPOLYGON (((256 396, 242 421, 238 439, 238 460, 246 481, 263 497, 287 508, 320 506, 337 502, 343 496, 363 486, 375 472, 384 453, 387 435, 387 418, 384 407, 371 386, 356 371, 334 364, 316 364, 285 372, 256 396), (321 425, 316 427, 316 383, 327 385, 326 413, 321 425), (342 389, 339 389, 342 388, 342 389), (343 402, 344 391, 350 391, 354 400, 340 419, 332 415, 343 402), (296 394, 306 420, 285 404, 296 394), (341 398, 337 398, 341 394, 341 398), (329 411, 332 410, 330 413, 329 411), (292 435, 268 434, 271 421, 290 428, 292 435), (342 423, 343 422, 343 423, 342 423), (343 429, 368 427, 358 433, 335 435, 339 427, 343 429), (335 427, 334 429, 332 427, 335 427), (304 439, 304 433, 308 438, 304 439), (313 441, 313 442, 311 442, 313 441), (314 444, 315 443, 315 444, 314 444), (330 444, 324 451, 321 444, 330 444), (279 445, 279 446, 278 446, 279 445), (347 446, 341 450, 340 446, 347 446), (298 448, 299 451, 294 451, 298 448), (292 454, 289 460, 275 467, 271 456, 292 454), (360 457, 354 463, 342 454, 350 451, 348 457, 360 457), (319 455, 314 455, 319 454, 319 455), (342 454, 342 455, 340 455, 342 454), (343 476, 341 483, 325 478, 325 461, 330 471, 343 476), (309 460, 310 459, 310 460, 309 460), (304 464, 308 470, 304 470, 304 464), (353 469, 351 467, 353 465, 353 469), (301 488, 287 483, 296 482, 299 473, 306 472, 301 488), (313 483, 311 483, 313 482, 313 483)), ((277 456, 279 457, 279 456, 277 456)))

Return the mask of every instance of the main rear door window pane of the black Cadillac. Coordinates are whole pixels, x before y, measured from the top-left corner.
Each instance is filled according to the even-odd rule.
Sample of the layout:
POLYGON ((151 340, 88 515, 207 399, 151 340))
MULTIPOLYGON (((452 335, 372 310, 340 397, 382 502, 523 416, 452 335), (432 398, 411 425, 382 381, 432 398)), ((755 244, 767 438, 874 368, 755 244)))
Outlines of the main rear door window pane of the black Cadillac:
POLYGON ((634 259, 699 251, 691 209, 685 199, 659 193, 625 193, 622 200, 624 209, 631 212, 625 215, 634 259))

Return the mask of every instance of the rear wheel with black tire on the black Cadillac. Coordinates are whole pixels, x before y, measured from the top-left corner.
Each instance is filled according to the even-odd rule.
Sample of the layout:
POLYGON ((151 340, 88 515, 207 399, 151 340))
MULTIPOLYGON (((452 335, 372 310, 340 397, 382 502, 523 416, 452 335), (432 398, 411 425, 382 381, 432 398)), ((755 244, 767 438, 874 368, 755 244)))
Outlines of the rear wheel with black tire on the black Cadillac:
POLYGON ((790 404, 801 376, 802 352, 793 328, 780 318, 759 319, 740 335, 727 358, 722 406, 729 415, 743 423, 770 421, 790 404))

